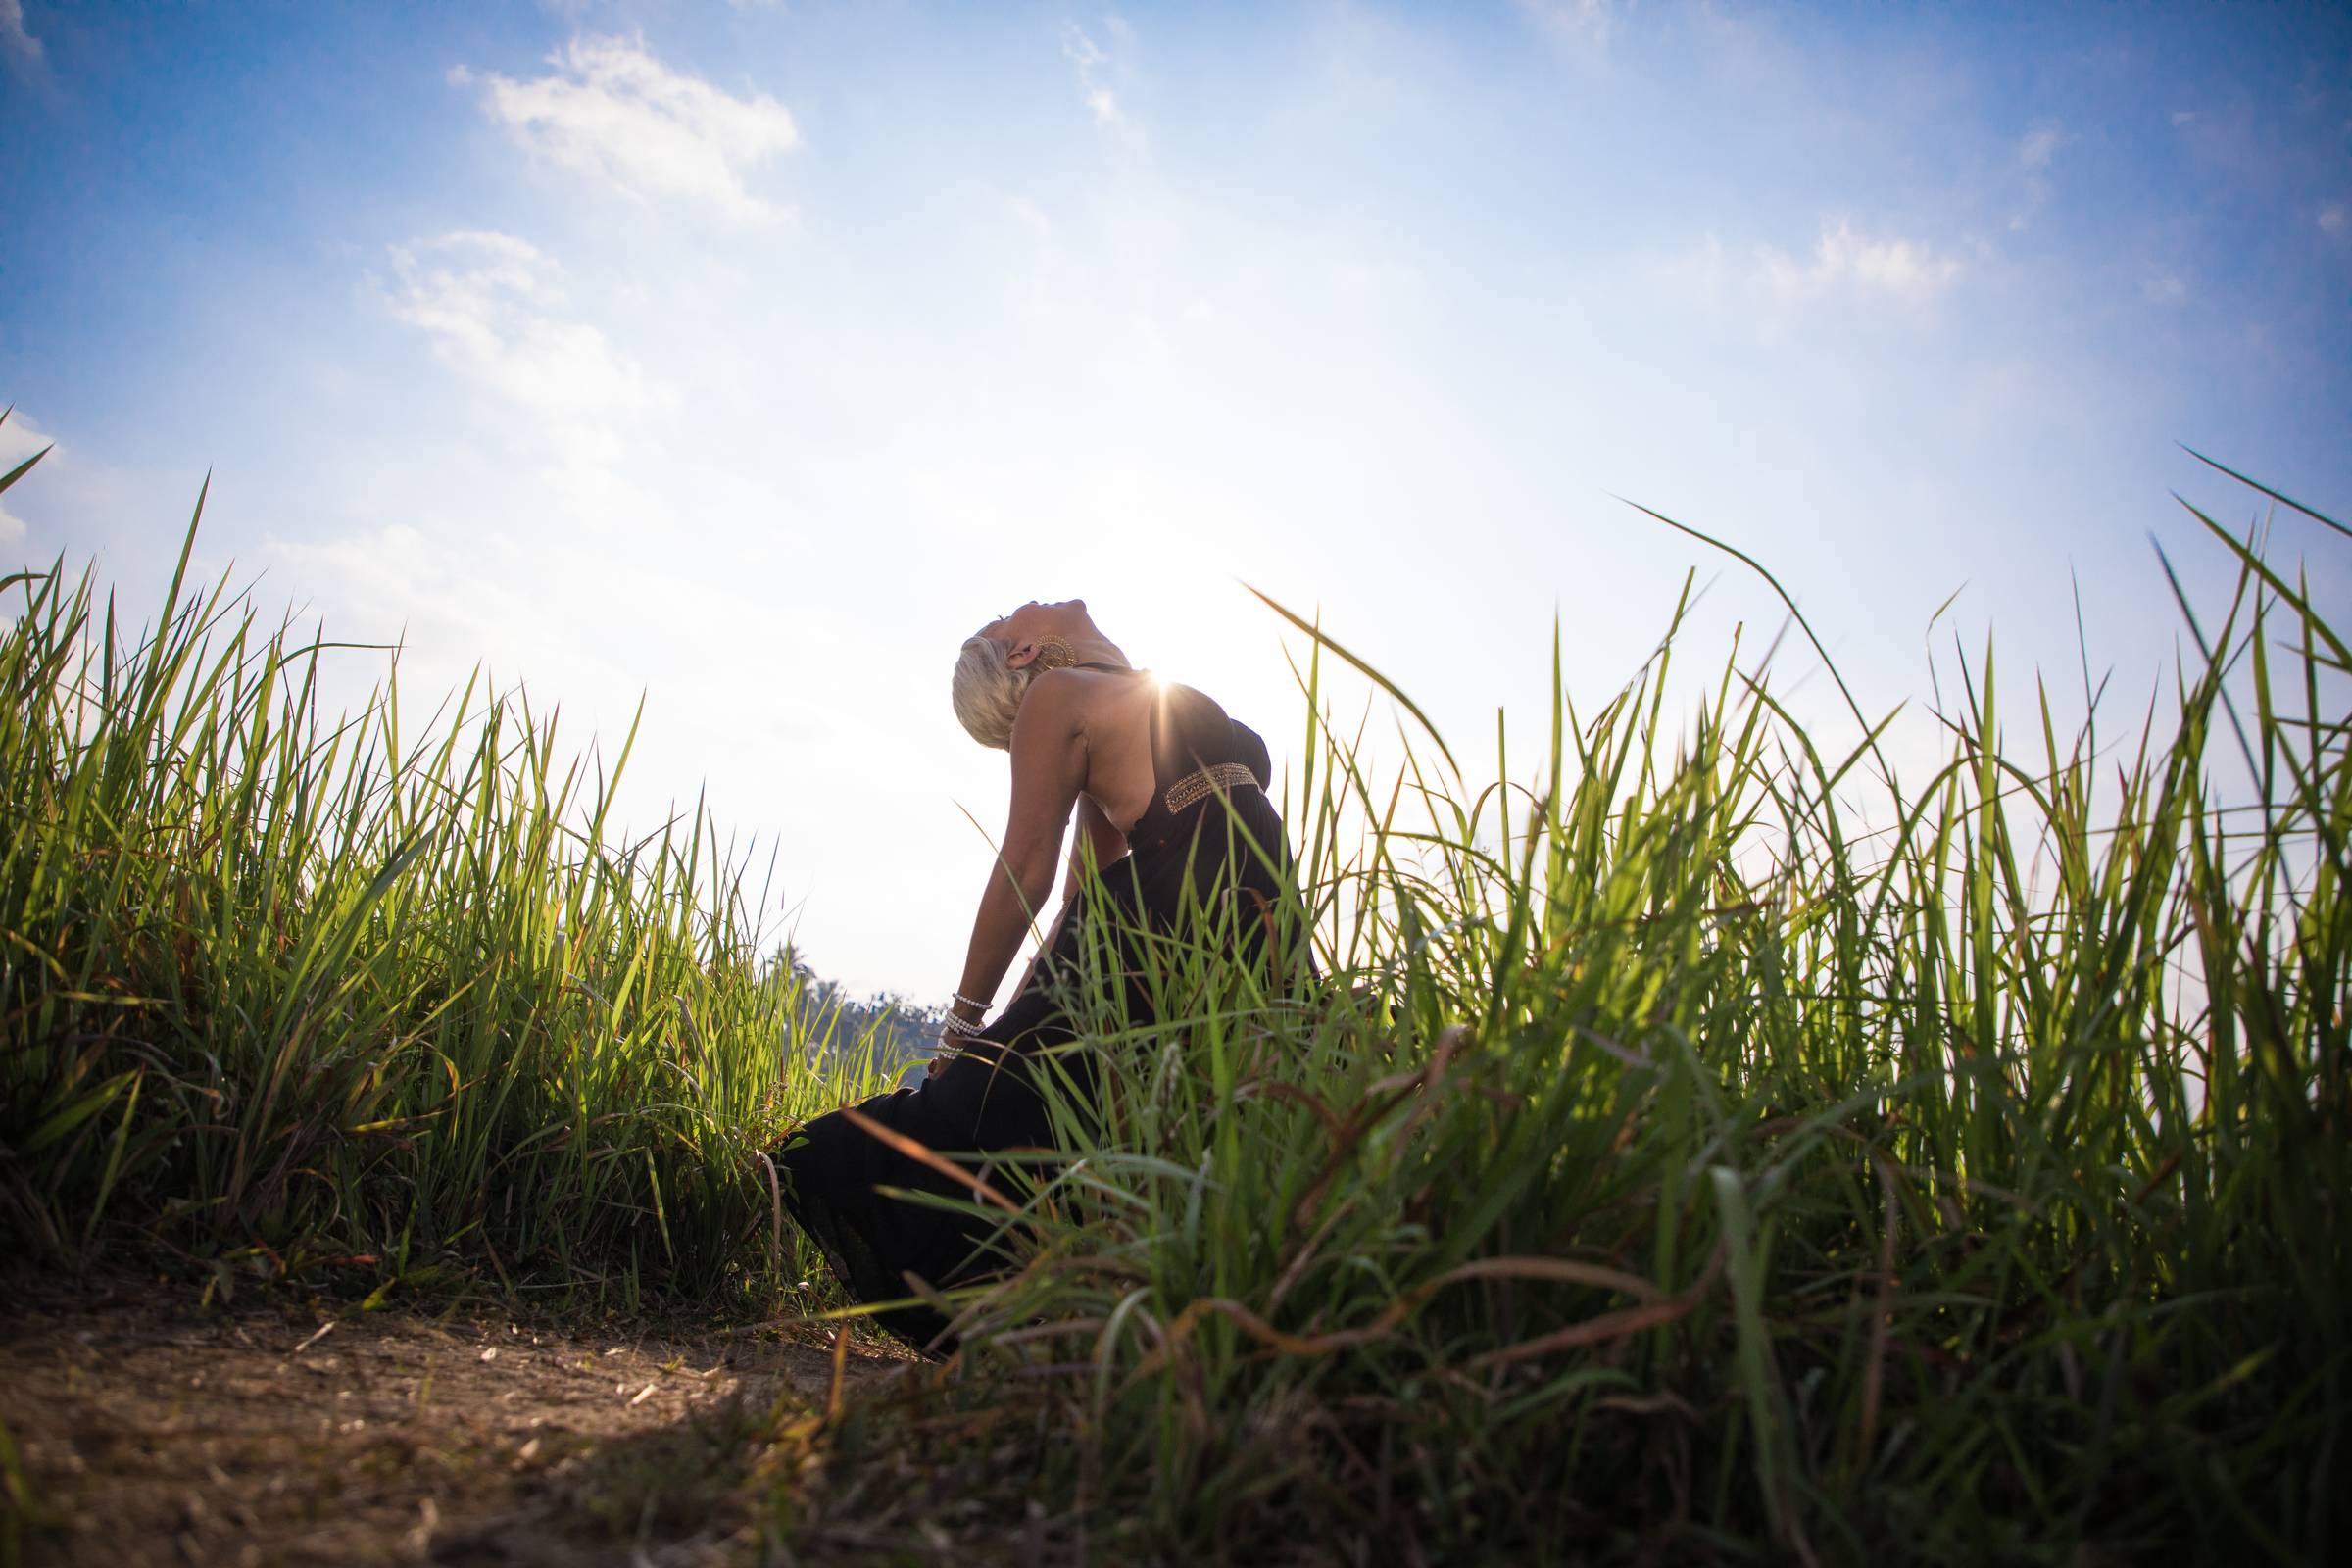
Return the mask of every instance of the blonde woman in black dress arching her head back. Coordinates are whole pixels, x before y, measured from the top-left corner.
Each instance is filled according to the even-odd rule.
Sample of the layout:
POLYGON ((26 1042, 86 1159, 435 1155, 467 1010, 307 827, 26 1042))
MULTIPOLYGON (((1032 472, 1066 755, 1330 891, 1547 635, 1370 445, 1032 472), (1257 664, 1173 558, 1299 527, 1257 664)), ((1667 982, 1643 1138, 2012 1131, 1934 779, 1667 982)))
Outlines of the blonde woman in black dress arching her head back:
MULTIPOLYGON (((955 717, 981 745, 1011 752, 1014 788, 941 1053, 920 1088, 816 1117, 781 1157, 793 1215, 863 1302, 920 1295, 910 1276, 941 1291, 1002 1265, 985 1220, 877 1187, 971 1201, 971 1180, 953 1175, 971 1161, 955 1154, 1054 1143, 1037 1081, 1047 1053, 1075 1039, 1068 1001, 1084 976, 1101 978, 1108 957, 1129 1023, 1150 1023, 1155 971, 1167 969, 1155 947, 1209 940, 1258 961, 1284 898, 1265 741, 1200 691, 1129 665, 1084 599, 1023 604, 967 639, 955 717), (1073 811, 1080 832, 1061 912, 1011 1004, 983 1025, 1054 886, 1073 811)), ((1051 1058, 1084 1095, 1084 1053, 1051 1058)), ((1018 1190, 1002 1171, 993 1185, 1018 1190)), ((929 1307, 875 1316, 915 1345, 946 1345, 946 1319, 929 1307)))

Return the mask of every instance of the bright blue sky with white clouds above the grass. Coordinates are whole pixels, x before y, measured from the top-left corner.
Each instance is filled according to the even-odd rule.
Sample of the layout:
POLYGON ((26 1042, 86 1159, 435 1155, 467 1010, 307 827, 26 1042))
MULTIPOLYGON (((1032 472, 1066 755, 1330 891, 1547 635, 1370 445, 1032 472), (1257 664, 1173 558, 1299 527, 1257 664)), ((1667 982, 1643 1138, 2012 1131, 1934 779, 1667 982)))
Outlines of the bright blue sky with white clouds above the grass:
POLYGON ((1872 712, 1955 590, 1945 661, 2072 675, 2072 581, 2145 701, 2150 534, 2223 567, 2169 491, 2256 517, 2178 442, 2352 512, 2321 7, 0 0, 0 555, 141 602, 212 470, 207 564, 412 689, 647 693, 644 813, 708 783, 922 997, 1004 804, 946 670, 1025 597, 1282 752, 1247 581, 1534 757, 1555 616, 1588 708, 1686 569, 1700 663, 1780 618, 1616 496, 1872 712))

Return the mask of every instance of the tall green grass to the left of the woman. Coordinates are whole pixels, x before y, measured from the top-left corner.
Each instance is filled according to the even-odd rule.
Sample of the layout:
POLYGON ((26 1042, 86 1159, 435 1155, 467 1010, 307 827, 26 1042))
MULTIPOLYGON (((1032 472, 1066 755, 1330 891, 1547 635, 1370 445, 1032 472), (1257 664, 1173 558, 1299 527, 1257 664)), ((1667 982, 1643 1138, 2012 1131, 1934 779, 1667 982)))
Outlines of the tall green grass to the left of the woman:
POLYGON ((522 691, 325 712, 325 661, 381 654, 191 585, 193 545, 139 630, 87 571, 0 583, 0 1246, 797 1279, 760 1150, 882 1065, 760 947, 748 860, 699 806, 619 839, 628 743, 567 757, 522 691))

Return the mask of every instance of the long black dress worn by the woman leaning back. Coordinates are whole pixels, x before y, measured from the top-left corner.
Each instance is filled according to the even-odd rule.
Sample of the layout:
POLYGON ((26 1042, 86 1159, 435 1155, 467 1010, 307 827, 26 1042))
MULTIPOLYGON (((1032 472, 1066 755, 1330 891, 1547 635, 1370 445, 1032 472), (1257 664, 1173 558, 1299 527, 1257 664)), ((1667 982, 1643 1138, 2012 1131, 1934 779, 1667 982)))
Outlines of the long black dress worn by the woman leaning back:
MULTIPOLYGON (((1134 672, 1143 675, 1143 672, 1134 672)), ((1082 976, 1108 976, 1124 992, 1131 1025, 1155 1013, 1152 945, 1214 940, 1235 961, 1265 961, 1282 914, 1289 851, 1282 818, 1265 788, 1272 783, 1265 741, 1190 686, 1162 686, 1152 722, 1152 804, 1127 835, 1129 853, 1063 910, 1054 947, 1030 971, 1028 985, 946 1067, 917 1088, 875 1095, 856 1110, 941 1152, 957 1168, 974 1168, 964 1152, 1042 1150, 1054 1131, 1037 1093, 1042 1053, 1075 1039, 1063 1009, 1082 976)), ((1054 1067, 1087 1084, 1087 1048, 1051 1051, 1054 1067)), ((988 1246, 985 1220, 880 1192, 936 1192, 971 1201, 969 1182, 891 1147, 842 1112, 811 1119, 786 1140, 786 1206, 826 1251, 842 1286, 861 1300, 915 1295, 908 1274, 948 1288, 1002 1267, 988 1246)), ((985 1173, 985 1171, 983 1171, 985 1173)), ((1018 1201, 1018 1182, 993 1185, 1018 1201)), ((929 1307, 894 1307, 875 1319, 915 1345, 943 1342, 946 1319, 929 1307)))

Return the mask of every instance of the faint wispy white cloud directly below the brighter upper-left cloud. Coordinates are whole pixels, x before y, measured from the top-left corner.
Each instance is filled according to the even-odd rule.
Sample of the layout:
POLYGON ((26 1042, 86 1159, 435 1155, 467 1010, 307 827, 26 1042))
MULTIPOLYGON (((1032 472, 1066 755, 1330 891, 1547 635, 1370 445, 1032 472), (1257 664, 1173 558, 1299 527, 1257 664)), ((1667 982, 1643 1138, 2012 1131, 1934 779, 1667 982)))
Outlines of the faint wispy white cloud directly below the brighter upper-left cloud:
POLYGON ((557 468, 607 470, 628 428, 670 388, 569 313, 560 268, 515 235, 461 230, 395 247, 393 317, 475 386, 524 409, 557 468))

